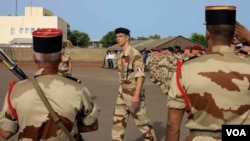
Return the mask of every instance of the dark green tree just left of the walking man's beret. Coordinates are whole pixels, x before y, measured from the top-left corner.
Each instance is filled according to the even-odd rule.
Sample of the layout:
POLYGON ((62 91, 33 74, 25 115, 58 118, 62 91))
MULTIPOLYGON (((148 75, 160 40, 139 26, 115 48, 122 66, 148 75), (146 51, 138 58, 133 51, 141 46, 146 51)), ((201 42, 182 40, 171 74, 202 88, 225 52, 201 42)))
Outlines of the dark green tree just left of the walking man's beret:
POLYGON ((103 47, 106 47, 106 48, 117 44, 115 32, 114 31, 108 32, 106 35, 102 37, 100 43, 103 45, 103 47))

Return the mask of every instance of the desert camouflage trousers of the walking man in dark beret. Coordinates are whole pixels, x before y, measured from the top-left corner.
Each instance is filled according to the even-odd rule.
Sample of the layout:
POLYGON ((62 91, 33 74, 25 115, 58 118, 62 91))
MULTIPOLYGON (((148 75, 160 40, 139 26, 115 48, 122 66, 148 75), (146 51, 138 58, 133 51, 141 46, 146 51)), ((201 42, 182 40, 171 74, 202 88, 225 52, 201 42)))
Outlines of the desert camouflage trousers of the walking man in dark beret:
MULTIPOLYGON (((122 141, 125 135, 128 118, 131 114, 136 126, 141 131, 145 141, 156 141, 153 126, 150 125, 145 107, 145 95, 140 95, 140 102, 137 108, 131 108, 131 93, 122 93, 119 89, 112 125, 112 141, 122 141)), ((129 90, 127 90, 129 91, 129 90)), ((133 90, 131 91, 133 93, 133 90)))

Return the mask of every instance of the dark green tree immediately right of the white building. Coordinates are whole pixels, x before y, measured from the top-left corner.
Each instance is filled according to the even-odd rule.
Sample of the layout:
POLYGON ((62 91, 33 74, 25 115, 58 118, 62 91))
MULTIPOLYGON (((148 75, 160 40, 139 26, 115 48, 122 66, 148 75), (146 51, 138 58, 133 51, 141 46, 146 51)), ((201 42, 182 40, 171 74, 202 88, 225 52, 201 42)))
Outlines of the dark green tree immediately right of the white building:
POLYGON ((68 40, 72 42, 74 46, 85 48, 89 46, 89 35, 78 30, 73 30, 68 35, 68 40))

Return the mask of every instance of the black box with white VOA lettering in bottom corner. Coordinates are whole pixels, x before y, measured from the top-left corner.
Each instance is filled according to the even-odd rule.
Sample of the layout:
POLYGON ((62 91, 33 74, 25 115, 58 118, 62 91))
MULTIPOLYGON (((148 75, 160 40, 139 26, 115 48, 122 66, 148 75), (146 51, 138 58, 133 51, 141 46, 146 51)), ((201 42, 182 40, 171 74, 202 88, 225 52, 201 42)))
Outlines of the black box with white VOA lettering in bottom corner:
POLYGON ((222 141, 249 141, 250 125, 222 125, 222 141))

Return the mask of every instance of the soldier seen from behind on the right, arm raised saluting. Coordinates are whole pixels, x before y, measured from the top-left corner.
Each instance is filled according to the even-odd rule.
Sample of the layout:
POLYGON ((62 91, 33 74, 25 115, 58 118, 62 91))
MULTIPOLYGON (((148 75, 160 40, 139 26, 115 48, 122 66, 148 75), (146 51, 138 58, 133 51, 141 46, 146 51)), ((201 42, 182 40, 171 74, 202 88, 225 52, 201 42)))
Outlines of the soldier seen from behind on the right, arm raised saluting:
POLYGON ((185 125, 190 129, 186 141, 220 141, 222 125, 250 124, 250 65, 229 47, 235 9, 206 7, 208 52, 185 62, 173 76, 166 141, 179 140, 185 109, 189 115, 185 125))

